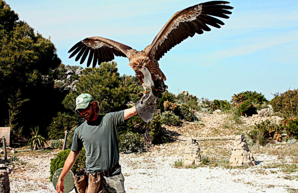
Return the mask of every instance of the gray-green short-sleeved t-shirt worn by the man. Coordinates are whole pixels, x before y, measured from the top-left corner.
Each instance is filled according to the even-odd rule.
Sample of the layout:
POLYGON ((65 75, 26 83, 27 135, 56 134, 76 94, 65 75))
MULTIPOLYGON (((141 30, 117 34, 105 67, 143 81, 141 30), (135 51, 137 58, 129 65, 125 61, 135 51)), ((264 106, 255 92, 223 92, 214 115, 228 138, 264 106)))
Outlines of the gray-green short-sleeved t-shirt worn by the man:
MULTIPOLYGON (((107 113, 75 129, 72 151, 86 150, 87 173, 105 171, 119 162, 117 126, 124 122, 124 110, 107 113)), ((114 173, 121 171, 119 167, 114 173)))

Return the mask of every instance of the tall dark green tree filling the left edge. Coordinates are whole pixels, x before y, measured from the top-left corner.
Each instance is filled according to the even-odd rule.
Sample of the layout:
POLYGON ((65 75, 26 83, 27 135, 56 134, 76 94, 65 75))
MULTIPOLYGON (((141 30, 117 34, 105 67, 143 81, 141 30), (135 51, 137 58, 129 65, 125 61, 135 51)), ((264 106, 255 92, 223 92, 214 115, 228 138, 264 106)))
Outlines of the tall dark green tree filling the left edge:
POLYGON ((1 125, 15 124, 18 131, 22 130, 22 125, 26 135, 34 125, 40 126, 41 133, 44 131, 51 121, 49 117, 63 107, 61 92, 53 90, 52 77, 52 70, 60 63, 50 39, 35 33, 26 22, 19 20, 18 14, 5 1, 0 0, 1 125), (21 94, 14 98, 18 92, 21 94), (24 102, 27 99, 29 101, 24 102), (14 123, 9 122, 9 110, 13 110, 14 123))

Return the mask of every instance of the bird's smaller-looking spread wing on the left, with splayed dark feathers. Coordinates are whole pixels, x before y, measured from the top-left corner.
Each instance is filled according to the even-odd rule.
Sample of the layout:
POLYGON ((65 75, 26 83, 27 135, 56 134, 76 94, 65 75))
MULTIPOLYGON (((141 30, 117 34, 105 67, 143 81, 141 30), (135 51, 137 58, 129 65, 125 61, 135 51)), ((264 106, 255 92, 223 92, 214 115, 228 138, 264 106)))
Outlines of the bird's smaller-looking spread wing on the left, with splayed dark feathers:
POLYGON ((76 43, 68 53, 72 52, 69 58, 78 53, 75 61, 78 61, 82 57, 80 64, 85 61, 89 54, 87 67, 90 66, 92 59, 92 67, 95 67, 97 63, 100 65, 102 62, 114 60, 114 55, 127 57, 127 51, 130 49, 132 48, 113 40, 102 37, 91 37, 76 43))

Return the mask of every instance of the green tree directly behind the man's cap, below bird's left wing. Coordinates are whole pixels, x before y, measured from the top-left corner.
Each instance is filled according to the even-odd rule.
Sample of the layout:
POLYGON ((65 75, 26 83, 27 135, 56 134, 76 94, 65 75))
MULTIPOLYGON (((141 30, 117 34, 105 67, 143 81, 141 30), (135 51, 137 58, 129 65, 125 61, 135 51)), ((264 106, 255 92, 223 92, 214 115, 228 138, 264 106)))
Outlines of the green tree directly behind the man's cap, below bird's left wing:
POLYGON ((97 68, 87 68, 84 76, 76 84, 77 91, 70 91, 63 100, 65 108, 75 112, 75 98, 82 93, 89 93, 97 100, 101 113, 122 110, 127 108, 128 91, 123 86, 119 76, 117 63, 101 63, 97 68))

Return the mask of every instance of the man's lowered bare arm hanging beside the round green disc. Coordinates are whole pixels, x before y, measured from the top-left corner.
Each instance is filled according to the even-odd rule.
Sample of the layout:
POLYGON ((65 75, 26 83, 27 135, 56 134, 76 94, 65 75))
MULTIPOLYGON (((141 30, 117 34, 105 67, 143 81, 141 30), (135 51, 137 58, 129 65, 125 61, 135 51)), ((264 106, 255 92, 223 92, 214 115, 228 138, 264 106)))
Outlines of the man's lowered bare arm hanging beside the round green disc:
POLYGON ((75 160, 77 159, 77 156, 79 156, 80 151, 70 151, 69 155, 67 156, 62 172, 58 178, 56 190, 58 193, 63 192, 64 190, 64 178, 68 174, 68 172, 72 169, 72 166, 75 164, 75 160))

